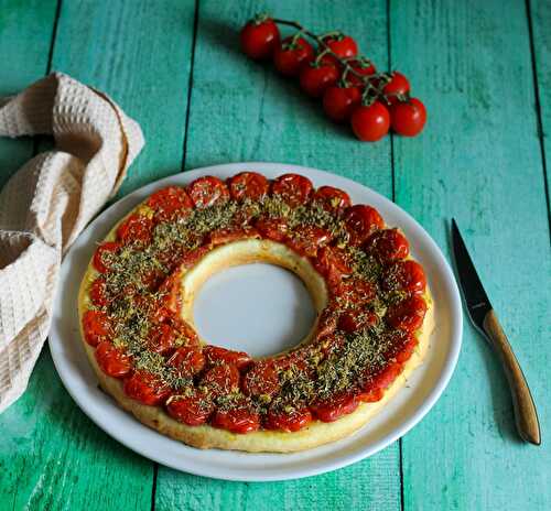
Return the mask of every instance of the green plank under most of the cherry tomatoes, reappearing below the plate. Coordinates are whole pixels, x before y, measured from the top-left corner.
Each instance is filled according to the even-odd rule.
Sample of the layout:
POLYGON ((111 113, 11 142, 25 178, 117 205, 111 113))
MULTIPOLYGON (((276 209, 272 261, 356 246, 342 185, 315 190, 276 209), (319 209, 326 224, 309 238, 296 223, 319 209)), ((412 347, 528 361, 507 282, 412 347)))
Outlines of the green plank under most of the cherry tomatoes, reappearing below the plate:
MULTIPOLYGON (((363 144, 327 121, 296 84, 238 50, 237 31, 256 11, 298 20, 320 33, 343 29, 387 66, 385 2, 202 1, 193 69, 185 168, 231 161, 298 163, 333 171, 391 196, 390 143, 363 144)), ((399 446, 315 479, 237 483, 160 467, 156 510, 400 508, 399 446)))

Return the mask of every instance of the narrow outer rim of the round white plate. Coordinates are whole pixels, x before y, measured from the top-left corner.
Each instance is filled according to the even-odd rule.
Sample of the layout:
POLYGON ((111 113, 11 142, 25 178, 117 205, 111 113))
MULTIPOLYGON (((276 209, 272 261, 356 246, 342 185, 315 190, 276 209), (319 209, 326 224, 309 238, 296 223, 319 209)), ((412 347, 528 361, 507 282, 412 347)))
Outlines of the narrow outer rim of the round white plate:
MULTIPOLYGON (((156 456, 155 453, 150 453, 144 450, 147 449, 140 449, 140 446, 133 445, 132 442, 128 441, 123 435, 121 435, 119 430, 116 430, 111 427, 110 424, 106 424, 101 422, 100 417, 97 417, 93 411, 87 409, 86 404, 86 399, 83 396, 78 395, 78 392, 74 391, 71 387, 71 374, 68 371, 66 371, 66 368, 64 367, 64 360, 63 358, 63 351, 56 349, 57 346, 63 346, 63 340, 62 340, 62 335, 57 331, 56 324, 54 320, 52 320, 52 326, 48 335, 48 345, 50 349, 52 352, 52 359, 54 361, 54 367, 57 371, 57 374, 60 376, 60 379, 62 380, 65 389, 67 390, 68 394, 73 398, 77 406, 87 415, 100 430, 105 431, 109 436, 111 436, 114 439, 119 442, 120 444, 125 445, 132 452, 139 454, 140 456, 143 456, 145 458, 149 458, 153 461, 156 461, 161 465, 171 467, 175 470, 180 471, 185 471, 187 474, 192 474, 195 476, 202 476, 202 477, 208 477, 208 478, 215 478, 215 479, 222 479, 222 480, 231 480, 231 481, 250 481, 250 482, 256 482, 256 481, 280 481, 280 480, 288 480, 288 479, 299 479, 299 478, 304 478, 304 477, 310 477, 310 476, 315 476, 320 474, 325 474, 332 470, 336 470, 338 468, 344 468, 346 466, 349 466, 354 463, 357 463, 361 459, 365 459, 367 457, 370 457, 375 455, 376 453, 382 450, 383 448, 388 447, 390 444, 396 442, 397 439, 401 438, 404 436, 411 428, 413 428, 428 413, 429 411, 435 405, 444 390, 446 389, 447 384, 450 383, 450 380, 455 371, 458 356, 461 352, 461 346, 462 346, 462 340, 463 340, 463 308, 462 308, 462 302, 461 302, 461 295, 458 292, 457 287, 457 282, 455 279, 455 275, 452 271, 451 264, 444 257, 442 250, 440 247, 436 244, 436 242, 432 239, 432 237, 426 232, 426 230, 404 209, 402 209, 399 205, 395 204, 392 200, 389 198, 385 197, 383 195, 379 194, 378 192, 374 191, 372 188, 358 183, 354 180, 350 180, 348 177, 342 176, 339 174, 334 174, 332 172, 327 171, 322 171, 318 168, 314 167, 307 167, 303 165, 294 165, 294 164, 287 164, 287 163, 274 163, 274 162, 235 162, 235 163, 225 163, 225 164, 216 164, 216 165, 208 165, 208 166, 202 166, 198 168, 192 168, 187 171, 180 171, 175 174, 172 174, 166 177, 162 177, 160 180, 153 181, 151 183, 148 183, 131 193, 127 194, 125 197, 121 197, 114 204, 109 205, 104 211, 101 211, 99 215, 97 215, 87 226, 83 231, 80 232, 79 237, 77 240, 73 243, 73 246, 68 249, 68 251, 65 254, 65 258, 62 262, 62 267, 60 270, 60 282, 58 282, 58 287, 56 289, 54 302, 53 302, 53 309, 56 309, 56 306, 58 305, 58 302, 61 301, 60 298, 60 291, 63 289, 65 282, 63 276, 65 273, 68 271, 66 268, 69 265, 71 262, 71 257, 67 257, 71 254, 71 252, 74 250, 74 248, 79 247, 83 244, 83 242, 79 243, 79 239, 84 239, 85 235, 88 230, 93 230, 98 224, 104 222, 107 218, 110 217, 110 215, 114 214, 114 211, 118 208, 131 208, 132 203, 136 202, 138 204, 139 200, 137 200, 141 195, 144 195, 147 197, 154 188, 163 185, 169 185, 173 184, 175 181, 181 182, 184 180, 185 182, 190 182, 193 178, 196 178, 201 175, 206 175, 206 174, 214 174, 216 173, 224 173, 227 171, 235 171, 238 172, 239 170, 242 172, 247 168, 255 167, 258 172, 262 173, 263 168, 269 170, 269 171, 281 171, 282 173, 284 172, 296 172, 296 173, 303 173, 305 175, 309 174, 317 174, 320 177, 325 177, 329 176, 329 180, 334 180, 335 177, 337 181, 342 181, 344 183, 343 187, 346 189, 346 184, 350 184, 350 187, 361 187, 364 188, 367 193, 375 194, 381 203, 385 204, 386 207, 390 208, 395 213, 397 213, 400 216, 404 216, 407 220, 415 227, 415 229, 422 235, 423 241, 425 244, 428 244, 429 250, 435 257, 435 259, 439 262, 439 267, 442 270, 442 274, 439 276, 443 276, 445 281, 445 287, 449 292, 449 298, 450 298, 450 309, 452 312, 451 314, 451 326, 450 326, 450 349, 447 351, 447 356, 443 362, 442 366, 442 371, 440 372, 437 379, 435 380, 434 384, 431 385, 430 392, 426 394, 424 400, 422 401, 421 405, 411 413, 411 415, 406 418, 404 421, 399 422, 399 424, 387 435, 383 436, 383 438, 379 439, 378 442, 368 444, 365 448, 358 448, 353 450, 352 453, 348 453, 344 455, 342 458, 337 459, 332 459, 329 461, 321 461, 315 466, 307 467, 307 468, 293 468, 291 467, 290 469, 284 469, 285 474, 256 474, 253 476, 251 475, 244 475, 244 474, 227 474, 224 472, 224 468, 222 468, 220 471, 216 471, 213 475, 213 471, 208 470, 202 470, 201 468, 196 469, 193 466, 188 465, 185 468, 182 468, 181 464, 177 464, 173 461, 172 459, 165 459, 164 457, 156 456), (69 262, 66 262, 69 261, 69 262), (289 472, 289 474, 288 474, 289 472)), ((181 184, 181 183, 180 183, 181 184)), ((347 191, 348 192, 348 191, 347 191)), ((55 314, 54 314, 55 316, 55 314)), ((83 350, 84 354, 84 350, 83 350)), ((69 362, 71 363, 71 362, 69 362)), ((125 412, 126 413, 126 412, 125 412)), ((142 427, 147 427, 143 424, 141 424, 138 420, 133 418, 138 425, 142 427)), ((148 428, 149 430, 149 428, 148 428)), ((158 432, 150 430, 152 433, 159 434, 158 432)), ((173 441, 177 442, 177 441, 173 441)), ((193 448, 193 447, 190 447, 193 448)), ((252 455, 253 454, 249 454, 252 455)), ((284 455, 283 455, 284 456, 284 455)), ((180 458, 181 459, 181 458, 180 458)), ((277 471, 277 470, 276 470, 277 471)))

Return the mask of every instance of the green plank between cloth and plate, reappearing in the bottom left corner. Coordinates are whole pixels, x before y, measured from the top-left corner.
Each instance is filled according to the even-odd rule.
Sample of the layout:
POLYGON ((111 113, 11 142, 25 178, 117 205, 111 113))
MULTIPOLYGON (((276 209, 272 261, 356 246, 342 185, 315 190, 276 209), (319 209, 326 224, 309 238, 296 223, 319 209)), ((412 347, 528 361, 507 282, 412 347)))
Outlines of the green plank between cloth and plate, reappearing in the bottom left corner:
MULTIPOLYGON (((53 68, 107 91, 141 123, 148 145, 130 170, 126 193, 181 166, 195 6, 116 6, 64 2, 53 68)), ((47 348, 30 389, 0 423, 6 438, 0 509, 151 508, 154 464, 84 415, 58 380, 47 348)))

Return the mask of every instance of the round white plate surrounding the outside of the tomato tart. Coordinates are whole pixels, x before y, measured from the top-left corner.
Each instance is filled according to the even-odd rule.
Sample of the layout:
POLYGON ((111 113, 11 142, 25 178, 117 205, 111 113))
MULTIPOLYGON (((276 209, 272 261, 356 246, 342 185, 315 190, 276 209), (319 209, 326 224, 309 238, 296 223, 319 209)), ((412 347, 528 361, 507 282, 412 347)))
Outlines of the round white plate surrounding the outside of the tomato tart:
MULTIPOLYGON (((281 274, 284 275, 284 272, 281 274)), ((270 275, 271 279, 277 279, 277 273, 272 272, 270 275)), ((300 286, 296 289, 290 284, 288 287, 291 291, 294 289, 300 295, 300 286)), ((284 284, 281 289, 285 289, 284 284)), ((216 304, 214 307, 216 308, 216 304)), ((266 313, 269 314, 269 311, 266 313)), ((262 314, 261 307, 255 311, 255 315, 258 314, 262 314)), ((257 323, 262 323, 261 317, 256 319, 257 323)), ((227 328, 233 328, 229 322, 227 328)), ((242 326, 237 324, 237 327, 242 326)), ((294 327, 301 329, 303 326, 294 325, 294 327)), ((241 481, 269 481, 313 476, 347 466, 371 456, 404 435, 429 412, 450 381, 460 354, 461 338, 462 307, 453 273, 431 237, 397 205, 354 181, 327 172, 278 163, 233 163, 180 173, 144 186, 114 204, 88 226, 62 265, 50 331, 50 348, 57 372, 78 406, 99 427, 127 447, 160 464, 199 476, 241 481), (98 390, 96 377, 79 339, 78 286, 96 242, 100 241, 125 214, 156 188, 171 184, 185 185, 206 174, 225 178, 245 170, 256 170, 268 177, 296 172, 309 176, 316 186, 332 185, 343 188, 349 193, 354 203, 370 204, 376 207, 388 225, 399 226, 406 232, 413 257, 425 269, 434 297, 436 327, 431 336, 426 359, 414 371, 408 385, 401 389, 371 422, 354 435, 304 453, 248 454, 217 449, 201 450, 150 430, 98 390)))

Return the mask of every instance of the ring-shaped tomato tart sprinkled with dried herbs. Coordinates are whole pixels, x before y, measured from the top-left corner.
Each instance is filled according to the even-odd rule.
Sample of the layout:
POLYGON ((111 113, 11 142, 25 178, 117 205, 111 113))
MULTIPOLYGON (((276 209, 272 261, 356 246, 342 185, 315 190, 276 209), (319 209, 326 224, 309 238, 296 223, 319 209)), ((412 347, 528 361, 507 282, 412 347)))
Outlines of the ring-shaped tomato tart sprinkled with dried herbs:
POLYGON ((288 453, 365 425, 418 366, 433 326, 409 243, 346 192, 241 172, 159 189, 98 246, 82 337, 102 389, 142 423, 201 448, 288 453), (317 311, 293 349, 262 359, 206 345, 193 300, 214 272, 270 262, 317 311))

